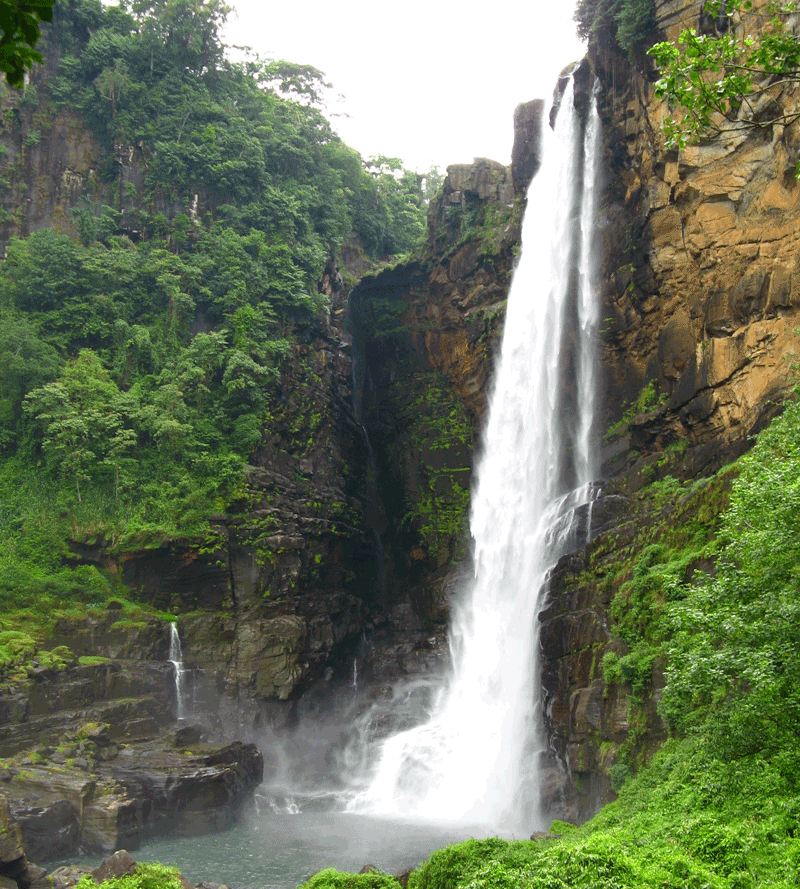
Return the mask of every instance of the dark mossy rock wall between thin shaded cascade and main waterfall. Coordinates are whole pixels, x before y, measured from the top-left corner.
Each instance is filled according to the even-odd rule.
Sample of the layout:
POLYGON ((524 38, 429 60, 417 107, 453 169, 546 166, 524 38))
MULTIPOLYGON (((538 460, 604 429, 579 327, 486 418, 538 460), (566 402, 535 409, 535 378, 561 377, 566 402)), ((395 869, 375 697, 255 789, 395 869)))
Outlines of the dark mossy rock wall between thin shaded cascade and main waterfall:
POLYGON ((482 158, 448 167, 425 249, 362 278, 350 295, 357 416, 376 464, 388 599, 410 591, 429 628, 446 613, 449 566, 466 557, 472 453, 521 210, 511 168, 482 158))

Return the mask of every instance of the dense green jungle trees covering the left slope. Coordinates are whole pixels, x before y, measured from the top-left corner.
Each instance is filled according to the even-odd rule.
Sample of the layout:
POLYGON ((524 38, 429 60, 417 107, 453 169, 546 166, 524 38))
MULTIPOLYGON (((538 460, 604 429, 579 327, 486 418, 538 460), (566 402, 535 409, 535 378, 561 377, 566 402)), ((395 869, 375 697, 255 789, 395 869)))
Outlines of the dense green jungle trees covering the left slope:
POLYGON ((378 260, 424 231, 423 177, 335 135, 321 72, 228 58, 229 12, 57 0, 47 75, 0 87, 0 189, 18 206, 20 109, 25 150, 65 114, 103 147, 96 197, 13 238, 0 266, 0 603, 102 601, 101 577, 62 567, 68 537, 202 540, 283 362, 324 318, 327 258, 353 234, 378 260), (120 151, 139 158, 137 184, 120 151))

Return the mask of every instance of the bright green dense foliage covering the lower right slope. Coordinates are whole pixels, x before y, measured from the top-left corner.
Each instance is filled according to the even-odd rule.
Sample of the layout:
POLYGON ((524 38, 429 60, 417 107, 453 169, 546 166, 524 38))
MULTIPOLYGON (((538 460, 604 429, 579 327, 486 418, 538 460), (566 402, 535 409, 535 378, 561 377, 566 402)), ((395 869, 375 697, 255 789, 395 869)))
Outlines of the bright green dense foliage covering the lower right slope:
MULTIPOLYGON (((636 692, 652 692, 660 661, 666 744, 635 775, 625 768, 619 798, 582 827, 447 847, 409 889, 800 885, 800 403, 718 479, 665 476, 643 496, 676 504, 671 526, 717 485, 730 488, 721 519, 711 509, 664 527, 617 601, 623 637, 632 654, 640 648, 606 682, 633 687, 635 728, 636 692)), ((322 871, 305 887, 358 889, 359 879, 322 871)), ((386 877, 381 887, 397 885, 386 877)))

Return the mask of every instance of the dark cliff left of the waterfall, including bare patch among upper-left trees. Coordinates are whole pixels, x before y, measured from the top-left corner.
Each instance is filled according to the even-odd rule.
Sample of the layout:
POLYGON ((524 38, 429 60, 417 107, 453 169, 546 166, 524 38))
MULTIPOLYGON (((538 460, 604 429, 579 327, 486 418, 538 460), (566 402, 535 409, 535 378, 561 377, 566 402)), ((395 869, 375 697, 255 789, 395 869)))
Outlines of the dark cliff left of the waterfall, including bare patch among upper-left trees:
MULTIPOLYGON (((26 92, 0 96, 0 244, 40 228, 75 236, 72 211, 89 203, 116 208, 119 229, 136 240, 146 149, 111 150, 49 102, 47 79, 59 59, 56 48, 45 49, 26 92)), ((359 286, 352 305, 376 290, 402 304, 397 335, 359 327, 336 261, 320 269, 330 313, 291 331, 296 342, 281 363, 245 485, 202 539, 140 548, 102 534, 70 541, 71 563, 97 565, 135 598, 179 616, 187 681, 227 733, 282 723, 303 692, 345 678, 354 658, 360 675, 385 680, 425 671, 443 656, 448 569, 465 555, 472 450, 521 195, 536 165, 539 111, 519 110, 525 150, 513 177, 487 160, 451 168, 431 208, 425 250, 359 286)), ((194 197, 189 215, 201 216, 208 203, 194 197)), ((187 212, 161 193, 153 200, 168 219, 187 212)), ((356 239, 341 261, 350 278, 371 265, 356 239)), ((205 319, 196 327, 206 330, 205 319)), ((53 644, 122 656, 101 643, 98 619, 71 619, 53 644)), ((129 654, 155 657, 146 640, 129 654)), ((20 738, 24 722, 15 720, 20 738)))

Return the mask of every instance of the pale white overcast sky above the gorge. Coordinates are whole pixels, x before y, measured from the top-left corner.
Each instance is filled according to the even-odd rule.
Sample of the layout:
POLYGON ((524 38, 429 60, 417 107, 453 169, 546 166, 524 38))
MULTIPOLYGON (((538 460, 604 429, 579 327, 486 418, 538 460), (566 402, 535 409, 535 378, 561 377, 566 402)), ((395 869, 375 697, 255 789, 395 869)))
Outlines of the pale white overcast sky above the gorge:
POLYGON ((323 71, 331 122, 364 158, 511 160, 514 109, 584 54, 574 0, 231 0, 228 44, 323 71))

